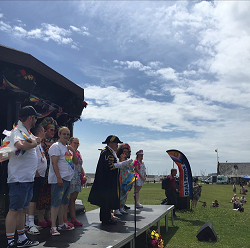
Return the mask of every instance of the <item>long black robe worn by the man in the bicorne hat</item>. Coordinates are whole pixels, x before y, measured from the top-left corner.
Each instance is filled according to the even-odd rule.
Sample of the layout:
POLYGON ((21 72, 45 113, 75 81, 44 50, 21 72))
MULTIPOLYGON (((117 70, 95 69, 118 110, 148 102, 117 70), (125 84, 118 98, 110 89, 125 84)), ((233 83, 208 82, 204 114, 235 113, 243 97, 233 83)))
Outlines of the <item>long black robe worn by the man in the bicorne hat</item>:
POLYGON ((120 184, 118 169, 112 151, 106 146, 102 151, 97 164, 95 180, 89 193, 88 201, 91 204, 106 209, 120 208, 120 184))

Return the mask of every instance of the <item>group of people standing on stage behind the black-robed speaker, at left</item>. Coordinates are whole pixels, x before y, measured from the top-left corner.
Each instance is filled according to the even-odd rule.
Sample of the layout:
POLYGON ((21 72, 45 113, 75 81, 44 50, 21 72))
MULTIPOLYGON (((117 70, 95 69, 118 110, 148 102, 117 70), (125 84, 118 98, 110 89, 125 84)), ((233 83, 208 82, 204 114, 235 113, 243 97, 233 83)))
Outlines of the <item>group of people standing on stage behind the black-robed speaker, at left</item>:
POLYGON ((42 228, 49 226, 51 235, 60 235, 58 230, 73 230, 82 225, 76 219, 75 199, 81 191, 81 182, 87 178, 78 151, 79 139, 70 138, 67 127, 60 127, 58 138, 54 139, 57 122, 45 117, 37 124, 39 117, 41 114, 32 106, 23 107, 16 127, 4 140, 9 155, 7 247, 38 245, 39 242, 30 240, 25 231, 38 235, 42 228), (68 209, 71 222, 67 218, 68 209))

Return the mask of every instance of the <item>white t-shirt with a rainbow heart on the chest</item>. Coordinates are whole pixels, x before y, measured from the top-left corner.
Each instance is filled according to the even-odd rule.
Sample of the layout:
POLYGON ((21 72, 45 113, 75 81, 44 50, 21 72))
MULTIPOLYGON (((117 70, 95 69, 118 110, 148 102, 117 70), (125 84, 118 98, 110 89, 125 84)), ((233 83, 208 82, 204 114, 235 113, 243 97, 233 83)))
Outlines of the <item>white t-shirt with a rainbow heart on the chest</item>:
POLYGON ((62 145, 60 142, 56 142, 52 144, 52 146, 49 148, 50 167, 48 183, 57 183, 57 177, 52 165, 52 156, 58 157, 57 165, 61 178, 65 181, 71 181, 74 175, 74 164, 72 162, 73 153, 69 151, 68 148, 62 145))

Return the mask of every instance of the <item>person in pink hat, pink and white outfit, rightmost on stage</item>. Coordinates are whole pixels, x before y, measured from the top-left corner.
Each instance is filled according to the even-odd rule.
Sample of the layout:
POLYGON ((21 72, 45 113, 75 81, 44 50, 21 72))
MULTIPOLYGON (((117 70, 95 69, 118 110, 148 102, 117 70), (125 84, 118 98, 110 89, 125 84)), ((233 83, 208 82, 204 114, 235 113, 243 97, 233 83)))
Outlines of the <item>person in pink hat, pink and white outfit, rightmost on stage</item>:
POLYGON ((143 183, 146 180, 146 167, 144 165, 143 159, 143 150, 139 150, 136 153, 136 159, 134 161, 135 172, 138 173, 139 178, 136 180, 136 207, 142 208, 143 206, 139 203, 139 192, 143 183))

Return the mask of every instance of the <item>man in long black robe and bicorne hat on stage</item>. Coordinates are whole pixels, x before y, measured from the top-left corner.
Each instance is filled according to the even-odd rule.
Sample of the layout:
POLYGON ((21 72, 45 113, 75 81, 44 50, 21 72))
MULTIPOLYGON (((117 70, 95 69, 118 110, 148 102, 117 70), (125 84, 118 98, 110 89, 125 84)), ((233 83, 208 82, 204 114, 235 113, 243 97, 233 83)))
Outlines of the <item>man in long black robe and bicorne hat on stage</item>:
MULTIPOLYGON (((133 160, 119 162, 115 152, 118 143, 122 142, 117 136, 110 135, 102 143, 107 146, 101 151, 88 201, 100 207, 100 221, 103 224, 115 224, 117 220, 112 218, 111 209, 120 208, 118 168, 129 166, 133 160)), ((120 156, 121 160, 125 157, 125 154, 120 156)))

